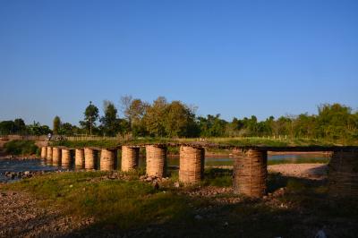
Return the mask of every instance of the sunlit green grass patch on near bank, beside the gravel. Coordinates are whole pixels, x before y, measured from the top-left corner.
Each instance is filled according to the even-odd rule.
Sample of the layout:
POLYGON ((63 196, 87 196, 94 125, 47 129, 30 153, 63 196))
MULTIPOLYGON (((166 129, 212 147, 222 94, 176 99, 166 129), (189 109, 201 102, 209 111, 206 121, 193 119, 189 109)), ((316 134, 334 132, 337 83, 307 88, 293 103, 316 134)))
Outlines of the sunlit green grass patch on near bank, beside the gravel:
POLYGON ((121 230, 149 225, 153 221, 179 219, 188 209, 183 196, 141 183, 139 174, 133 174, 130 181, 98 179, 106 174, 47 174, 13 183, 8 188, 30 191, 44 205, 56 204, 64 208, 65 214, 96 217, 97 225, 121 230))

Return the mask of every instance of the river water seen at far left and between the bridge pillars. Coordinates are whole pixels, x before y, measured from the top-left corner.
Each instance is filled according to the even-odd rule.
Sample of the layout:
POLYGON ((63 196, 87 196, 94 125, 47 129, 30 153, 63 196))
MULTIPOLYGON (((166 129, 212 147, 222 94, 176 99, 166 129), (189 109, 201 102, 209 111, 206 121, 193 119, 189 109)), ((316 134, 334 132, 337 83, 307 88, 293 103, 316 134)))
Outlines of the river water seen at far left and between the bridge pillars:
MULTIPOLYGON (((120 165, 120 159, 117 161, 120 165)), ((269 155, 268 165, 283 163, 327 163, 328 157, 320 154, 285 154, 269 155)), ((234 157, 205 157, 205 166, 233 166, 234 157)), ((145 166, 145 158, 140 158, 141 167, 145 166)), ((167 157, 167 166, 179 166, 179 157, 167 157)), ((59 166, 47 164, 42 159, 0 159, 0 182, 7 181, 5 172, 24 172, 24 171, 53 171, 60 169, 59 166)))

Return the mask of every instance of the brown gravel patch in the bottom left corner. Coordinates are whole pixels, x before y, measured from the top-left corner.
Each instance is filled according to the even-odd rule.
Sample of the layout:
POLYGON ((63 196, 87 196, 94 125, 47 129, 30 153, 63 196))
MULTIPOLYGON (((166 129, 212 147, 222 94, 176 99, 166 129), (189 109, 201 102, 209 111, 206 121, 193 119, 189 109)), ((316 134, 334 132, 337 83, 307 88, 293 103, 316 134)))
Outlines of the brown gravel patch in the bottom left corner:
POLYGON ((61 208, 39 208, 36 203, 25 192, 2 191, 0 237, 63 237, 93 223, 92 218, 64 216, 61 208))

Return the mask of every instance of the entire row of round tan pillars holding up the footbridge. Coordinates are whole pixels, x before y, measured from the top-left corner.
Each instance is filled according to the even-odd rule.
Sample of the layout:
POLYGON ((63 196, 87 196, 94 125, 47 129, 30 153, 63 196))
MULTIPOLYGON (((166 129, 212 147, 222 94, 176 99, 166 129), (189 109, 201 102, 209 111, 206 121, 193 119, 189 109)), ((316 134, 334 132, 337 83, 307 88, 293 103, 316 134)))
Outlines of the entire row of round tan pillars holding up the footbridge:
MULTIPOLYGON (((95 169, 97 163, 96 149, 75 149, 74 165, 85 169, 95 169)), ((140 149, 123 146, 122 170, 134 170, 139 164, 140 149)), ((41 149, 41 157, 52 160, 54 165, 70 165, 70 149, 47 147, 41 149)), ((116 152, 101 149, 100 170, 114 170, 116 152)), ((268 151, 248 149, 240 151, 240 157, 234 160, 233 187, 234 192, 249 197, 260 198, 267 192, 267 160, 268 151)), ((332 196, 358 195, 357 151, 334 151, 329 163, 328 186, 332 196)), ((181 183, 198 183, 203 179, 205 149, 192 146, 181 146, 179 181, 181 183)), ((150 176, 166 175, 166 146, 146 146, 146 173, 150 176)))

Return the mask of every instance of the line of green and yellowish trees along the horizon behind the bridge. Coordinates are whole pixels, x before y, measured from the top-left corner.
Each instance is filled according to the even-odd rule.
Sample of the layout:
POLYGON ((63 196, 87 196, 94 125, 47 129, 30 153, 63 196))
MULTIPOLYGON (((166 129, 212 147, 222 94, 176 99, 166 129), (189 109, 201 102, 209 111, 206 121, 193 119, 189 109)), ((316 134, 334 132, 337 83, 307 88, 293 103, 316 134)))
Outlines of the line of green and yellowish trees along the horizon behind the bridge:
POLYGON ((259 121, 255 115, 234 117, 231 122, 220 115, 196 115, 196 107, 181 101, 168 102, 159 97, 151 104, 140 98, 124 96, 120 111, 111 101, 103 103, 103 115, 98 106, 90 104, 83 112, 80 126, 63 123, 55 116, 52 130, 47 125, 32 123, 25 125, 22 119, 0 123, 0 133, 59 135, 90 134, 100 136, 132 137, 255 137, 288 136, 291 138, 358 140, 358 112, 349 106, 324 104, 318 107, 317 115, 269 116, 259 121))

